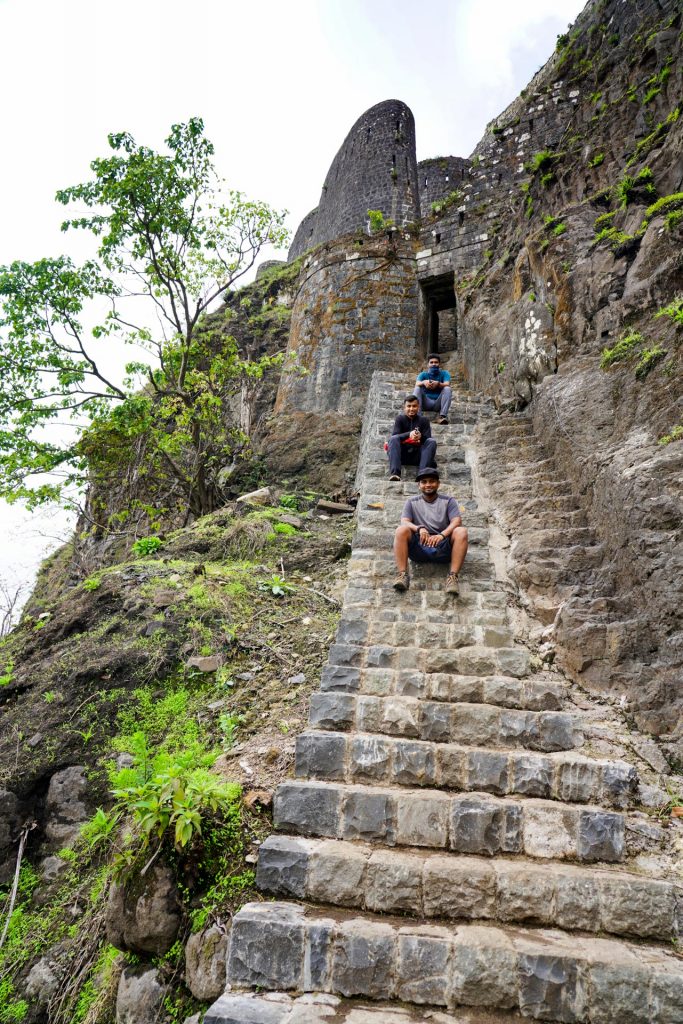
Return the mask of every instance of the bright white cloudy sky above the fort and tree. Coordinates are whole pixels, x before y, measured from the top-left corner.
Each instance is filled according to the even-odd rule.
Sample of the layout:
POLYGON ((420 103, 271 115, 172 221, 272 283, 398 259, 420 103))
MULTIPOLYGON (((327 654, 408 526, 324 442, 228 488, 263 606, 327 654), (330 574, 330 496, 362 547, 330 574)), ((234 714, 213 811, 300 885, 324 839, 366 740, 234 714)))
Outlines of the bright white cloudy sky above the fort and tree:
MULTIPOLYGON (((418 159, 468 156, 550 56, 584 0, 0 0, 0 265, 76 249, 57 188, 84 181, 111 131, 161 146, 198 115, 230 187, 316 206, 353 122, 412 109, 418 159)), ((0 580, 45 550, 0 503, 0 580)), ((54 532, 57 519, 43 527, 54 532)))

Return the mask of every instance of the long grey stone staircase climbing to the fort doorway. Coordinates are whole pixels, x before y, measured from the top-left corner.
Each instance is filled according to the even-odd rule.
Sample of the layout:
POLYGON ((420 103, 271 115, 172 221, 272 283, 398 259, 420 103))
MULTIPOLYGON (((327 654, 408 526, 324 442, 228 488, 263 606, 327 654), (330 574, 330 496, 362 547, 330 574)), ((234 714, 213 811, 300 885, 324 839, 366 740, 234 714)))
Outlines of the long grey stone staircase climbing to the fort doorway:
MULTIPOLYGON (((373 378, 342 618, 259 854, 276 901, 236 915, 205 1024, 683 1022, 656 779, 614 712, 516 642, 466 463, 488 414, 464 388, 433 427, 470 535, 461 595, 445 566, 392 589, 417 485, 388 482, 382 441, 411 380, 373 378)), ((568 498, 547 495, 549 529, 586 528, 568 498)))

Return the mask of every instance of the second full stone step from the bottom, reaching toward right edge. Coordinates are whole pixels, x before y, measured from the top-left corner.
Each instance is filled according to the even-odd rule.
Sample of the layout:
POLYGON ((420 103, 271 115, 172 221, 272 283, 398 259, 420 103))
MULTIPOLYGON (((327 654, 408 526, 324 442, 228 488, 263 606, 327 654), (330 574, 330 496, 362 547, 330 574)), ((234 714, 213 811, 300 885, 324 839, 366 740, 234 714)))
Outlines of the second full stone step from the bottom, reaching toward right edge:
POLYGON ((572 864, 539 864, 367 843, 270 836, 261 892, 376 913, 499 921, 671 941, 683 910, 675 882, 572 864))

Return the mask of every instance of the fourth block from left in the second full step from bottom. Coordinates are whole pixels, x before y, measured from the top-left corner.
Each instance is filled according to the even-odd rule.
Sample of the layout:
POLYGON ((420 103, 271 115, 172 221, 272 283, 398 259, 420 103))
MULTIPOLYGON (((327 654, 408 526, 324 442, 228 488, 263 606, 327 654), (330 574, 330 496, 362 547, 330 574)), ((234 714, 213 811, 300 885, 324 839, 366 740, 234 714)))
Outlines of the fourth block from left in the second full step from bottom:
POLYGON ((471 857, 429 857, 424 865, 424 911, 428 918, 493 918, 496 873, 471 857))

